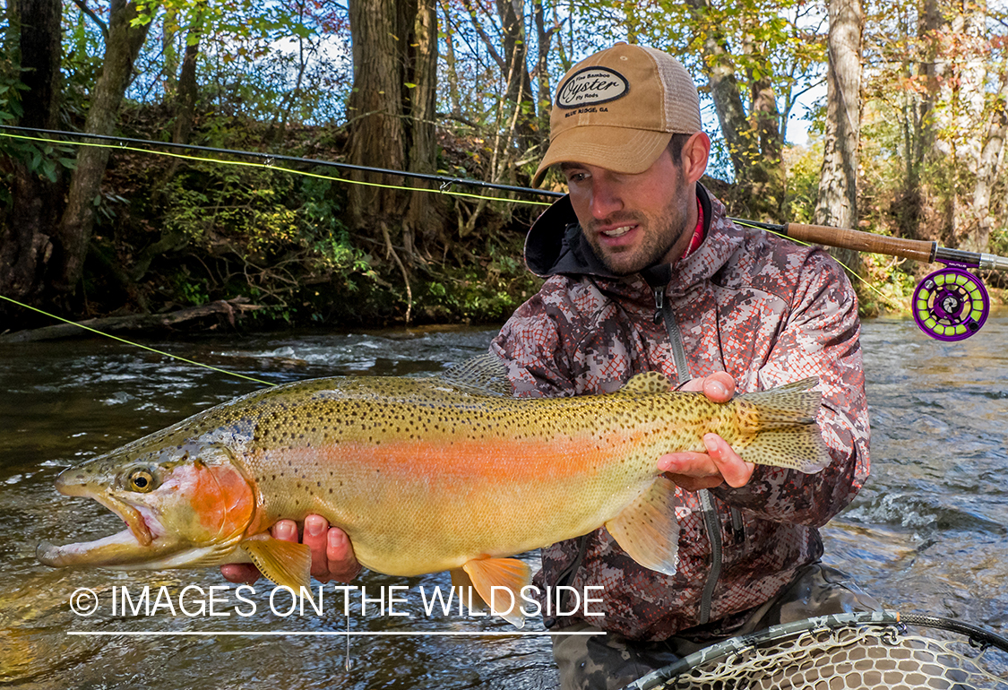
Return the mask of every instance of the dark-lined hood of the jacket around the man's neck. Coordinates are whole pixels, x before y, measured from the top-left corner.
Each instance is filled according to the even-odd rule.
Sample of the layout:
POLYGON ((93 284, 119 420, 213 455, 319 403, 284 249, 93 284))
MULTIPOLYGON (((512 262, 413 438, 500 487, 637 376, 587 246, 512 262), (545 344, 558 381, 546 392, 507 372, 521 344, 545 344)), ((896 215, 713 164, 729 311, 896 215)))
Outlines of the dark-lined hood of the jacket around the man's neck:
MULTIPOLYGON (((700 184, 697 185, 697 198, 704 210, 705 238, 701 245, 701 251, 692 254, 687 262, 700 254, 704 247, 710 247, 714 244, 708 240, 711 237, 715 212, 720 211, 719 215, 724 217, 724 207, 720 202, 714 200, 707 189, 700 184), (720 209, 714 208, 715 202, 721 207, 720 209)), ((571 195, 556 201, 532 223, 532 227, 529 228, 528 235, 525 237, 525 265, 539 277, 561 274, 587 275, 613 280, 629 277, 615 275, 596 255, 595 250, 592 249, 581 231, 574 206, 571 204, 571 195)), ((670 266, 667 263, 655 264, 645 268, 641 273, 648 283, 654 285, 660 282, 663 284, 669 280, 670 266)))

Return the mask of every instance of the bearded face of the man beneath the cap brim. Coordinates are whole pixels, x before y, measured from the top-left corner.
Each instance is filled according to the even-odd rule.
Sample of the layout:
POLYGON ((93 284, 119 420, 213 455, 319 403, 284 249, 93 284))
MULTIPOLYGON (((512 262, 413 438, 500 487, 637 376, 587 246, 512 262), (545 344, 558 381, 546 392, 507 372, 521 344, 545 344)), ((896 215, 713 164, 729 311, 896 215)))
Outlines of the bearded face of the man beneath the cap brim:
POLYGON ((685 251, 697 223, 696 187, 668 149, 636 175, 561 163, 585 238, 606 267, 629 275, 685 251))

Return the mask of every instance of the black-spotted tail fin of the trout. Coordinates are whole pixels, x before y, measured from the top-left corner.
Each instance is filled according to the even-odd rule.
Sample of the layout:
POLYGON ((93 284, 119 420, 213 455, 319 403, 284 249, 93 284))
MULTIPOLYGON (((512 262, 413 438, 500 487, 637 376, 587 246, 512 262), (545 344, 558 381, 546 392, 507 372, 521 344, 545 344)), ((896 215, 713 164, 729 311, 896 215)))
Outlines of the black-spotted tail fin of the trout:
POLYGON ((812 390, 817 377, 805 378, 770 390, 746 393, 737 399, 739 418, 754 436, 736 451, 743 460, 814 474, 832 458, 815 423, 823 394, 812 390))

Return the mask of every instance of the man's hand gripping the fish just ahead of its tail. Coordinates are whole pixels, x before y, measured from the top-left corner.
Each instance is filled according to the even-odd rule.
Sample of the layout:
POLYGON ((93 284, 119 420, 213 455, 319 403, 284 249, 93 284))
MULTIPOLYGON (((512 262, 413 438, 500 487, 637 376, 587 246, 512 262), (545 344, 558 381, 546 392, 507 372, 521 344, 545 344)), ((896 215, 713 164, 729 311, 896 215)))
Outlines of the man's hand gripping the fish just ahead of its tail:
MULTIPOLYGON (((682 390, 703 392, 715 402, 727 402, 735 394, 735 379, 727 371, 706 378, 695 378, 682 390)), ((658 458, 658 469, 687 491, 729 486, 745 486, 752 478, 754 465, 745 462, 717 434, 704 437, 707 453, 669 453, 658 458)))

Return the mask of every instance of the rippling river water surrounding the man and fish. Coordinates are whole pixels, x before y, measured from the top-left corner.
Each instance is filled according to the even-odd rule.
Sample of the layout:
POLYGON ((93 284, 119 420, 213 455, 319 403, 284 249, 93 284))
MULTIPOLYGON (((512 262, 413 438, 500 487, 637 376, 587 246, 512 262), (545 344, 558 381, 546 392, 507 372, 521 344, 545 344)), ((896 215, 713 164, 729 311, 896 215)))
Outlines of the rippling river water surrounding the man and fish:
MULTIPOLYGON (((144 344, 280 383, 434 372, 486 351, 493 335, 429 329, 144 344)), ((872 476, 824 530, 826 560, 888 607, 1008 635, 1008 314, 961 343, 930 340, 905 320, 867 322, 863 342, 872 476)), ((367 573, 356 584, 367 588, 368 610, 351 592, 348 618, 343 594, 329 588, 321 613, 310 602, 288 612, 290 597, 271 602, 265 581, 240 593, 216 569, 64 571, 35 560, 40 541, 122 527, 98 503, 57 494, 62 468, 258 387, 110 340, 0 347, 0 685, 555 687, 547 638, 502 635, 514 628, 465 610, 428 615, 425 598, 447 590, 445 574, 367 573), (91 615, 71 610, 75 592, 86 606, 85 588, 97 595, 91 615), (348 624, 349 657, 339 635, 348 624)), ((537 620, 527 628, 542 629, 537 620)))

